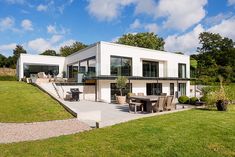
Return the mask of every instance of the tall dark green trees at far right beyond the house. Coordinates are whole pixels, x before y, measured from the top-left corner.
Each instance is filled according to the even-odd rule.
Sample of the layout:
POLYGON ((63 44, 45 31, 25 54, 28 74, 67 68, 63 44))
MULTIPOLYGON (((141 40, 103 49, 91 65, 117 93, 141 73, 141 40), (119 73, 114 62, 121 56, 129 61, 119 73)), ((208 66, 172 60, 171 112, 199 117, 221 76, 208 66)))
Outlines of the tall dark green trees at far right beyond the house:
POLYGON ((235 80, 235 48, 232 39, 219 34, 203 32, 199 35, 202 45, 199 54, 194 58, 198 61, 197 70, 202 82, 219 81, 222 75, 226 82, 235 80), (206 79, 205 79, 206 78, 206 79))

